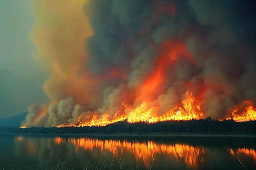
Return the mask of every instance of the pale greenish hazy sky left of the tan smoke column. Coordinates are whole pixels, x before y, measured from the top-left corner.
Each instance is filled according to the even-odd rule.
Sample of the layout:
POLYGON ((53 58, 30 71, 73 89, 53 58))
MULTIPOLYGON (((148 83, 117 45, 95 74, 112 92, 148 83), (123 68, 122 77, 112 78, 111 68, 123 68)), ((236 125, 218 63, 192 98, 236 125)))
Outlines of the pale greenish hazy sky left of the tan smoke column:
POLYGON ((0 119, 48 101, 42 89, 47 75, 31 55, 33 23, 27 0, 0 1, 0 119))

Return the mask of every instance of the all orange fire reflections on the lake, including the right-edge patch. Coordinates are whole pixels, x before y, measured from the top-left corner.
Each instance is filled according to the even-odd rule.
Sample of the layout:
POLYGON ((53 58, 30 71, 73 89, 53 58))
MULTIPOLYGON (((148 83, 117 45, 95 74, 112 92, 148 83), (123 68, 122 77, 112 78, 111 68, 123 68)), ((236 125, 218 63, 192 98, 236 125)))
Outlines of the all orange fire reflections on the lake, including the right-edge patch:
MULTIPOLYGON (((98 152, 103 155, 110 152, 114 159, 136 160, 137 164, 143 163, 145 168, 150 168, 153 164, 159 163, 184 163, 189 169, 200 169, 209 162, 209 155, 214 152, 213 148, 206 146, 194 146, 185 143, 165 144, 155 141, 127 141, 124 139, 98 139, 98 138, 50 138, 54 145, 73 146, 74 154, 78 155, 81 150, 98 152)), ((49 139, 47 139, 49 141, 49 139)), ((16 142, 23 142, 27 151, 31 154, 37 152, 37 147, 33 146, 31 139, 26 137, 16 137, 16 142)), ((229 148, 226 149, 227 155, 235 161, 251 160, 256 164, 256 151, 253 148, 229 148)), ((90 159, 90 158, 88 158, 90 159)), ((111 159, 111 158, 110 158, 111 159)))

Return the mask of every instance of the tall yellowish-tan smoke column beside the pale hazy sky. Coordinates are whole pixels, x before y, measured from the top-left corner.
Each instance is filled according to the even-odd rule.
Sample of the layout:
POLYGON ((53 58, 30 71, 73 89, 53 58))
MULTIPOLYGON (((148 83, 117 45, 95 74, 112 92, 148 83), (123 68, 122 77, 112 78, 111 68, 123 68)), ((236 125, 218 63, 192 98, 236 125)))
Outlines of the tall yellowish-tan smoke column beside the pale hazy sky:
POLYGON ((76 114, 74 102, 89 108, 94 106, 92 86, 96 82, 88 73, 83 76, 78 73, 82 61, 88 58, 84 41, 91 30, 82 12, 82 1, 30 0, 30 3, 35 18, 31 37, 38 48, 33 56, 49 73, 43 89, 51 101, 42 106, 29 106, 25 124, 52 126, 68 119, 73 111, 76 114), (70 107, 73 111, 67 113, 70 107), (65 108, 66 112, 62 112, 65 108))

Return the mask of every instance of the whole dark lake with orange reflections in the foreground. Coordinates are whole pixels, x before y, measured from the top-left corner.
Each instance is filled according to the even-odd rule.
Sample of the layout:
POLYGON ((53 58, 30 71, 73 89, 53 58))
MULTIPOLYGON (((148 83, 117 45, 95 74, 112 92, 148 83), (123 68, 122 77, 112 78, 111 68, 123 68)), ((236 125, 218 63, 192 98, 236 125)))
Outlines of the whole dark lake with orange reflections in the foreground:
POLYGON ((256 169, 255 136, 0 137, 0 170, 256 169))

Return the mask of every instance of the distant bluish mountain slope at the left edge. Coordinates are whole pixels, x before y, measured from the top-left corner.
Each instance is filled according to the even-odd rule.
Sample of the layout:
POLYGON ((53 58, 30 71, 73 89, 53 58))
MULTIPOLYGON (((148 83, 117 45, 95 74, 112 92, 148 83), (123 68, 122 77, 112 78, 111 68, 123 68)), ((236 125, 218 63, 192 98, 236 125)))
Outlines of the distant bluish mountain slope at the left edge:
POLYGON ((27 113, 24 112, 16 116, 0 119, 0 127, 20 127, 21 122, 26 119, 27 113))

